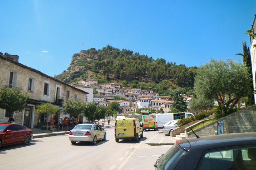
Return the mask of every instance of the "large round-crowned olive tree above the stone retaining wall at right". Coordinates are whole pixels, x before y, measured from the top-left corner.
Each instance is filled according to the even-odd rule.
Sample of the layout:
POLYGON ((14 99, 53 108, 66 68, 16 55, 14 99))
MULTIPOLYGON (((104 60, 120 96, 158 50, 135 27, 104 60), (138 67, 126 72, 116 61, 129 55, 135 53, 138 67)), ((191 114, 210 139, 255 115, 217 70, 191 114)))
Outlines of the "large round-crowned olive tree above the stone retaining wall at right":
POLYGON ((194 91, 205 100, 216 100, 221 114, 225 114, 234 108, 239 99, 251 93, 250 81, 244 63, 231 58, 211 59, 197 70, 194 91))

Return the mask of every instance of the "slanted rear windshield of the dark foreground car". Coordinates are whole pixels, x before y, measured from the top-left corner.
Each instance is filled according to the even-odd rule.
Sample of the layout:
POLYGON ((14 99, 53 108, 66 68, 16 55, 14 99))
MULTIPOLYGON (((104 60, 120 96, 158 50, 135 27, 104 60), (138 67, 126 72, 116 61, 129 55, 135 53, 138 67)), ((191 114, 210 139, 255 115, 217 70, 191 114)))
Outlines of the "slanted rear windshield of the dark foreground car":
POLYGON ((174 170, 187 152, 173 145, 160 159, 157 170, 174 170))

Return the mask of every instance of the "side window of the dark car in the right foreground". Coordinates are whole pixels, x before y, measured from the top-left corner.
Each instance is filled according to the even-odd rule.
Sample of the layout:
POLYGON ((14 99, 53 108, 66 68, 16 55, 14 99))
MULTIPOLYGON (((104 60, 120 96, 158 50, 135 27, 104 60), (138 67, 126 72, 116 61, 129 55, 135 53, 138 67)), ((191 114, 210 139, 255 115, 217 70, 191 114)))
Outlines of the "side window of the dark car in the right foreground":
POLYGON ((215 149, 205 151, 197 170, 251 169, 256 167, 256 147, 239 149, 215 149), (245 167, 245 168, 244 168, 245 167))

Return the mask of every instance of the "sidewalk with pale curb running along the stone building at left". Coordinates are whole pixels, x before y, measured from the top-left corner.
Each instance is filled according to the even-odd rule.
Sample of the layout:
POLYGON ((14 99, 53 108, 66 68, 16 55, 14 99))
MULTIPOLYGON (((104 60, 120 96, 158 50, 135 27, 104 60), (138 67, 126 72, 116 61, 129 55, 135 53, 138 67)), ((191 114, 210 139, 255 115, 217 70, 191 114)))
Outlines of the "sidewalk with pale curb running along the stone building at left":
MULTIPOLYGON (((104 125, 103 129, 107 129, 107 128, 111 128, 114 127, 113 125, 104 125)), ((69 134, 69 130, 67 131, 57 131, 57 130, 53 130, 53 131, 49 131, 48 132, 52 132, 52 133, 45 133, 46 130, 41 130, 41 129, 31 129, 33 130, 33 139, 35 138, 44 138, 44 137, 52 137, 52 136, 57 136, 57 135, 67 135, 69 134)))

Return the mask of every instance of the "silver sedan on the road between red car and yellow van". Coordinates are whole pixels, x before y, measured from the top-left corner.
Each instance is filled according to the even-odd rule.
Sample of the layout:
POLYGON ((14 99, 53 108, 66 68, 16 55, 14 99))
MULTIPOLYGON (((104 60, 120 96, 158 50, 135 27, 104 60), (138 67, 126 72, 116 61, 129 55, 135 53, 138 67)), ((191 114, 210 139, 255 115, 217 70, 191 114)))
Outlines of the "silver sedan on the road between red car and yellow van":
POLYGON ((69 132, 68 137, 72 144, 87 141, 95 145, 100 139, 106 140, 106 131, 101 129, 98 124, 78 124, 69 132))

